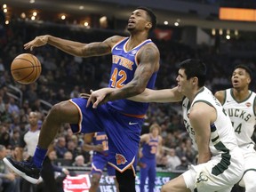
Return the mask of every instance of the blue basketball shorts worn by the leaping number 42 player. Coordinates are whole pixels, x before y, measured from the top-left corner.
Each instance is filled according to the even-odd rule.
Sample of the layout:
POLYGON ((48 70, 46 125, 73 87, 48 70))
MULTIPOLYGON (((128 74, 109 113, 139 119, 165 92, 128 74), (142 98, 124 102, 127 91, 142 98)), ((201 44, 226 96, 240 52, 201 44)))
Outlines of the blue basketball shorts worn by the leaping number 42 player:
POLYGON ((143 118, 125 116, 108 103, 98 108, 86 108, 87 100, 69 100, 79 111, 78 124, 70 124, 74 133, 106 132, 108 136, 108 164, 119 172, 132 166, 135 174, 143 118))

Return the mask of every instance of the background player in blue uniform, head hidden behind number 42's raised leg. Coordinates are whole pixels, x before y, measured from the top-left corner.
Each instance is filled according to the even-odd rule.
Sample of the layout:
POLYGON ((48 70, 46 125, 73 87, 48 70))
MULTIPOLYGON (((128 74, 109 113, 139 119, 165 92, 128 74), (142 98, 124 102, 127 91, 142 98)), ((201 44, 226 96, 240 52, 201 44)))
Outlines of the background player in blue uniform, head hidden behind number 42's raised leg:
POLYGON ((114 178, 116 191, 118 191, 115 168, 108 164, 108 137, 106 132, 84 134, 84 150, 93 151, 91 188, 89 192, 96 192, 99 188, 104 167, 107 168, 108 176, 114 178))

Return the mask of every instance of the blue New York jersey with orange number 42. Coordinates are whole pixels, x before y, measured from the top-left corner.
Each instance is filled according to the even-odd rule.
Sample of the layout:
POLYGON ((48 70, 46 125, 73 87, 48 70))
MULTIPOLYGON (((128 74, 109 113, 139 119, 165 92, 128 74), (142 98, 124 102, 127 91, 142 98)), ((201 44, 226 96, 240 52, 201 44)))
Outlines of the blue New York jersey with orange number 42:
MULTIPOLYGON (((112 48, 112 68, 108 87, 121 88, 124 84, 132 81, 138 61, 136 60, 137 52, 145 44, 154 44, 150 39, 142 42, 134 47, 131 51, 126 52, 125 45, 129 41, 129 37, 124 38, 112 48)), ((153 89, 156 82, 156 73, 154 73, 148 81, 147 87, 153 89)), ((124 114, 143 116, 148 109, 148 103, 135 102, 132 100, 114 100, 109 101, 113 108, 124 114)))

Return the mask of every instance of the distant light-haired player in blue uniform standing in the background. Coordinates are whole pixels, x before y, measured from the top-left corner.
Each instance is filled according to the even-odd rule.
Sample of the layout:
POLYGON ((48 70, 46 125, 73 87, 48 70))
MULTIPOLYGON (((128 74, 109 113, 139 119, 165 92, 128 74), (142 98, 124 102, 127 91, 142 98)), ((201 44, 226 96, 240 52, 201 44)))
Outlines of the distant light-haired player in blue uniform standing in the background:
POLYGON ((162 137, 159 135, 160 126, 152 124, 149 133, 140 136, 140 192, 145 191, 148 177, 148 192, 153 192, 156 180, 156 155, 162 148, 162 137))

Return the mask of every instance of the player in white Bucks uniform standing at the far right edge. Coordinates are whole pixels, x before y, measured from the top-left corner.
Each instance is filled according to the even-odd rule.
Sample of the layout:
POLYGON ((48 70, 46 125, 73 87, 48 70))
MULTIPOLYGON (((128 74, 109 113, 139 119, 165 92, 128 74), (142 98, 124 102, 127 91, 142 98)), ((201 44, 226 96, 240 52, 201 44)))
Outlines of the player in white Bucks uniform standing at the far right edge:
POLYGON ((252 140, 256 124, 256 93, 249 90, 251 77, 250 68, 238 65, 231 77, 233 88, 215 93, 231 119, 238 146, 243 149, 244 176, 239 185, 245 187, 245 192, 256 191, 256 151, 252 140))

